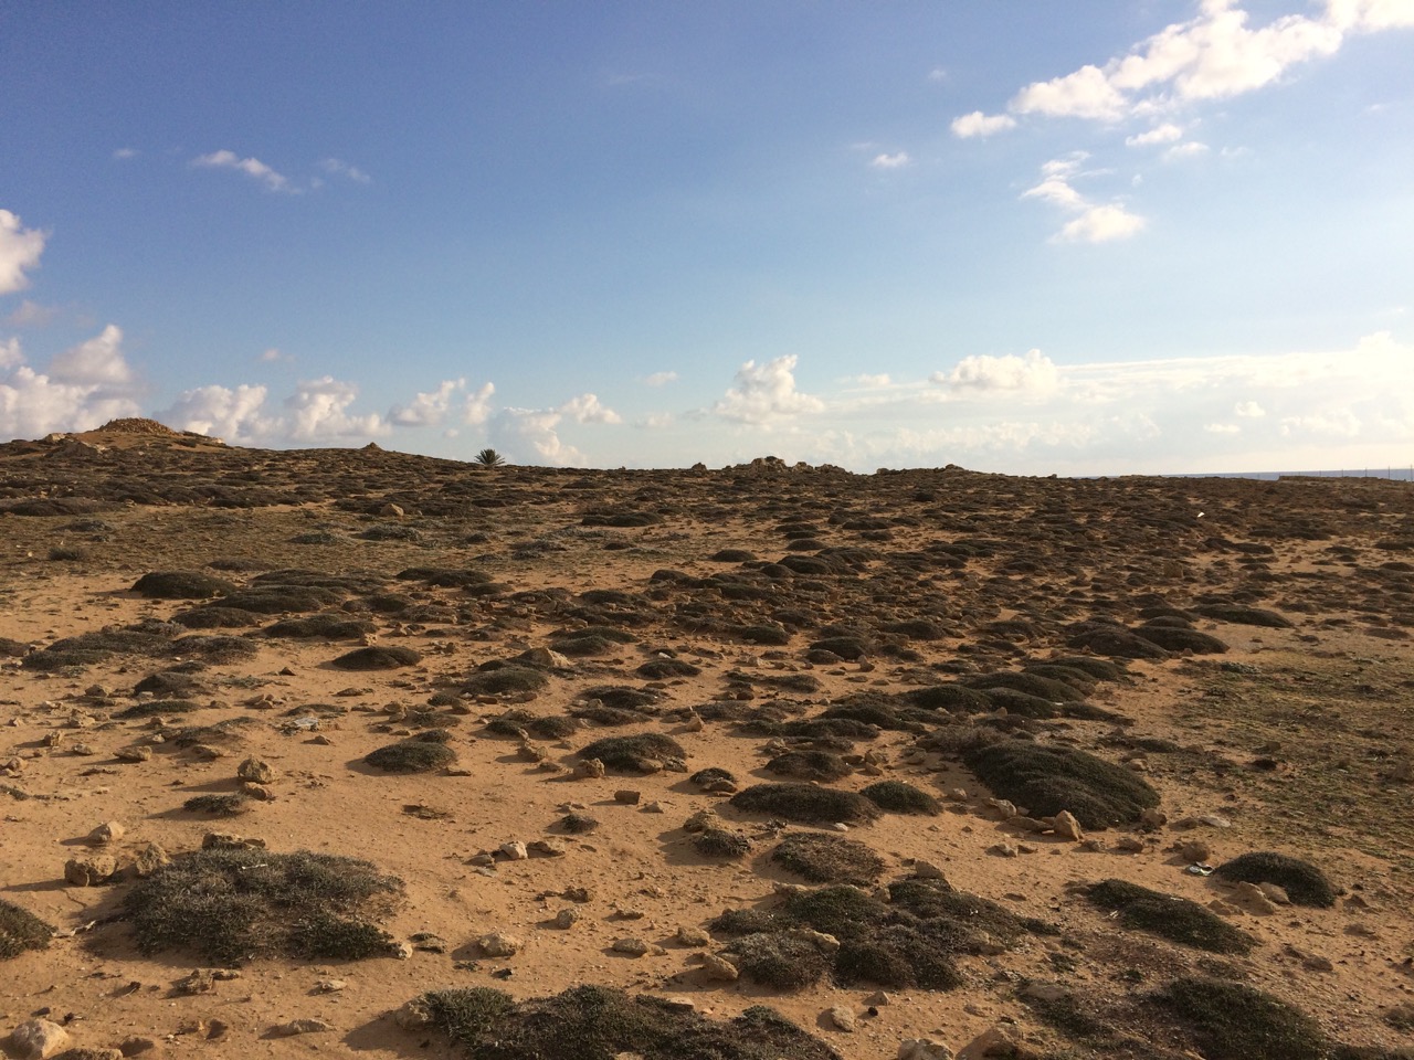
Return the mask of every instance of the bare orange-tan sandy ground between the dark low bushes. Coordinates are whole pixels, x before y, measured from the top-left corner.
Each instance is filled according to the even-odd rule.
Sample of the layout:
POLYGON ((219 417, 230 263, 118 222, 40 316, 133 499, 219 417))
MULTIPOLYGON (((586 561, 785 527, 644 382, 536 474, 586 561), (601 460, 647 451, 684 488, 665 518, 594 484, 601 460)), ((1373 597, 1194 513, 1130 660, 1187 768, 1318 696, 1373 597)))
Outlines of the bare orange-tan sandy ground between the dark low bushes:
MULTIPOLYGON (((163 466, 180 468, 184 457, 175 451, 164 457, 171 464, 163 466)), ((31 451, 8 457, 10 503, 49 489, 37 481, 20 482, 24 475, 14 471, 33 468, 35 459, 31 451)), ((103 457, 88 459, 92 464, 103 457)), ((211 459, 223 457, 218 452, 211 459)), ((260 459, 266 462, 264 479, 277 478, 270 468, 281 457, 262 454, 260 459)), ((342 459, 356 465, 359 454, 342 459)), ((1018 984, 1059 981, 1068 989, 1107 995, 1130 988, 1117 981, 1123 970, 1141 970, 1145 985, 1154 987, 1165 975, 1202 971, 1220 961, 1236 967, 1250 985, 1299 1005, 1338 1040, 1389 1049, 1414 1044, 1384 1019, 1407 1005, 1414 991, 1408 914, 1414 893, 1411 789, 1407 769, 1403 779, 1397 769, 1407 762, 1401 755, 1408 755, 1414 731, 1414 642, 1400 636, 1411 625, 1414 603, 1408 574, 1394 571, 1391 577, 1403 579, 1393 588, 1389 579, 1376 582, 1367 574, 1401 558, 1377 550, 1374 543, 1408 531, 1414 503, 1407 485, 1366 488, 1360 493, 1365 509, 1352 509, 1350 519, 1333 526, 1329 537, 1309 540, 1299 534, 1251 538, 1244 533, 1250 526, 1241 524, 1237 513, 1249 523, 1261 519, 1280 524, 1270 492, 1243 497, 1234 488, 1206 482, 1157 483, 1152 489, 1168 490, 1184 509, 1202 505, 1199 510, 1220 513, 1226 503, 1232 513, 1225 526, 1186 531, 1159 555, 1152 541, 1145 544, 1141 530, 1138 536, 1121 533, 1143 520, 1137 519, 1138 505, 1126 510, 1113 490, 1086 500, 1082 509, 1075 488, 1065 483, 978 476, 993 482, 984 490, 967 492, 966 533, 957 524, 940 529, 918 519, 915 505, 908 512, 913 519, 892 524, 892 540, 867 544, 827 524, 831 507, 850 505, 888 522, 905 512, 896 490, 871 493, 861 485, 870 479, 847 475, 795 472, 790 481, 789 469, 759 473, 766 472, 792 482, 793 492, 786 493, 793 512, 769 510, 769 497, 776 492, 769 481, 742 497, 732 492, 741 475, 684 475, 683 495, 697 497, 701 510, 679 509, 652 526, 609 530, 583 526, 585 500, 672 507, 658 479, 635 482, 625 473, 628 479, 615 481, 612 472, 590 473, 570 492, 563 489, 571 481, 564 476, 537 479, 530 469, 505 469, 495 475, 502 475, 502 485, 515 483, 523 503, 481 509, 462 522, 409 513, 410 506, 403 506, 402 516, 392 510, 378 514, 375 502, 380 502, 376 490, 368 496, 372 512, 341 510, 337 497, 328 496, 235 510, 212 510, 205 503, 115 503, 90 516, 106 526, 99 530, 74 530, 82 519, 75 514, 0 516, 0 639, 31 649, 144 619, 165 622, 199 603, 146 599, 133 591, 141 574, 164 570, 206 570, 238 584, 260 570, 362 571, 431 609, 427 613, 447 619, 409 622, 351 612, 378 626, 365 642, 411 647, 421 657, 414 666, 370 673, 331 664, 358 647, 356 639, 271 639, 259 636, 259 625, 194 630, 247 636, 257 644, 253 657, 205 666, 195 695, 202 707, 174 722, 249 719, 238 739, 221 746, 223 756, 215 759, 170 743, 153 745, 154 753, 144 762, 115 758, 117 749, 150 741, 154 732, 148 719, 122 721, 115 715, 143 702, 133 691, 139 680, 180 666, 178 657, 119 653, 57 671, 27 667, 21 657, 4 661, 0 899, 27 909, 59 934, 47 950, 0 964, 0 1033, 45 1015, 61 1022, 76 1044, 116 1047, 126 1040, 130 1052, 134 1039, 147 1039, 157 1050, 173 1054, 450 1057, 455 1052, 444 1039, 430 1032, 409 1033, 389 1013, 428 989, 495 985, 525 998, 588 982, 689 998, 700 1012, 718 1018, 768 1003, 827 1040, 847 1060, 892 1057, 899 1042, 925 1036, 962 1049, 997 1025, 1041 1050, 1036 1054, 1068 1047, 1075 1050, 1072 1056, 1089 1056, 1103 1053, 1090 1053, 1083 1043, 1065 1043, 1018 998, 1018 984), (602 490, 602 496, 594 490, 602 490), (635 490, 648 490, 648 500, 635 490), (918 612, 921 603, 942 601, 937 612, 947 616, 949 635, 913 643, 916 659, 870 654, 855 661, 810 663, 810 632, 796 633, 788 646, 765 649, 713 632, 684 630, 682 609, 674 612, 684 595, 663 592, 665 582, 655 579, 655 572, 669 568, 708 578, 731 567, 710 558, 723 548, 749 550, 762 558, 785 555, 786 543, 772 537, 772 527, 792 514, 809 514, 812 503, 813 522, 833 546, 899 553, 994 534, 1010 537, 1012 546, 969 563, 964 571, 932 571, 874 588, 851 584, 844 591, 831 579, 820 579, 829 582, 817 601, 826 622, 854 618, 867 625, 885 612, 905 616, 918 612), (1383 517, 1367 519, 1370 503, 1383 517), (1029 568, 1004 570, 1018 557, 1018 526, 1029 520, 1032 533, 1053 544, 1066 519, 1087 526, 1089 540, 1070 550, 1038 546, 1031 551, 1029 568), (420 540, 356 538, 373 524, 411 527, 420 531, 420 540), (335 540, 291 544, 301 531, 315 529, 329 531, 335 540), (1182 745, 1186 755, 1181 763, 1169 763, 1164 755, 1141 756, 1138 763, 1162 796, 1167 825, 1099 832, 1102 849, 1086 849, 1051 834, 1019 834, 998 820, 986 801, 990 793, 956 759, 935 755, 913 762, 905 753, 916 739, 911 732, 881 734, 867 746, 878 752, 880 769, 834 784, 858 790, 882 776, 908 780, 940 799, 964 790, 964 799, 945 801, 936 817, 884 814, 875 823, 853 827, 848 835, 884 858, 884 882, 909 875, 915 859, 923 859, 939 866, 954 888, 1060 929, 1058 936, 1027 937, 1005 953, 963 958, 967 981, 960 989, 889 991, 887 1002, 875 1003, 877 988, 868 984, 841 988, 826 981, 797 992, 776 992, 745 979, 708 981, 697 961, 703 950, 717 951, 721 943, 682 946, 676 941, 679 927, 701 927, 730 907, 769 906, 778 900, 778 885, 803 882, 771 861, 773 840, 765 818, 735 810, 724 794, 700 791, 684 773, 575 776, 574 752, 591 739, 662 732, 683 745, 690 772, 725 767, 741 786, 781 780, 764 769, 764 738, 741 735, 727 721, 689 725, 677 708, 720 701, 724 688, 742 687, 727 680, 731 671, 817 678, 816 691, 779 693, 782 700, 814 714, 864 690, 904 691, 925 680, 952 680, 947 666, 959 660, 966 666, 954 669, 1010 669, 1028 659, 1068 653, 1058 630, 1065 622, 1085 618, 1099 606, 1097 601, 1107 601, 1109 613, 1133 620, 1138 611, 1133 601, 1145 594, 1162 595, 1182 608, 1202 592, 1250 587, 1251 561, 1243 553, 1205 548, 1202 543, 1210 533, 1273 547, 1271 555, 1261 557, 1260 568, 1277 585, 1268 587, 1273 596, 1261 606, 1275 606, 1294 625, 1258 629, 1199 619, 1196 628, 1223 640, 1227 653, 1130 661, 1124 683, 1100 685, 1093 697, 1097 705, 1121 715, 1123 726, 1075 721, 1042 735, 1113 760, 1121 753, 1107 739, 1120 731, 1182 745), (526 550, 527 543, 537 541, 553 547, 526 550), (1336 555, 1340 565, 1332 567, 1331 550, 1336 547, 1355 550, 1356 558, 1336 555), (69 558, 57 548, 75 555, 69 558), (219 570, 221 561, 232 558, 246 560, 247 570, 219 570), (216 570, 209 567, 212 563, 216 570), (393 579, 411 565, 475 567, 503 581, 508 592, 468 599, 458 588, 393 579), (1157 585, 1155 579, 1165 584, 1157 585), (1383 595, 1372 589, 1381 585, 1383 595), (443 708, 458 756, 454 775, 386 775, 363 762, 370 750, 409 732, 399 721, 402 712, 426 705, 438 693, 458 690, 488 660, 547 646, 566 620, 527 594, 550 589, 563 589, 571 599, 588 589, 619 589, 633 601, 650 601, 650 618, 631 628, 635 643, 622 644, 615 654, 568 660, 532 698, 464 695, 452 709, 443 708), (672 598, 653 599, 655 589, 672 598), (1307 601, 1309 609, 1282 609, 1281 599, 1307 601), (978 632, 988 622, 1017 618, 1038 629, 1034 636, 1014 639, 1010 657, 986 646, 971 647, 991 636, 978 632), (1386 632, 1372 635, 1376 628, 1386 632), (560 715, 583 701, 587 687, 645 687, 649 683, 635 669, 665 650, 690 660, 700 674, 658 683, 662 714, 650 721, 604 729, 590 725, 563 741, 537 741, 549 752, 546 762, 526 760, 515 739, 484 731, 485 721, 512 707, 560 715), (1219 660, 1229 669, 1219 669, 1219 660), (1239 684, 1225 693, 1225 683, 1230 685, 1234 674, 1243 673, 1230 664, 1247 666, 1264 680, 1270 677, 1271 684, 1256 691, 1239 684), (1360 725, 1332 726, 1311 714, 1312 697, 1329 700, 1331 694, 1319 690, 1331 687, 1346 690, 1352 700, 1332 700, 1332 717, 1359 714, 1360 725), (1251 719, 1243 714, 1244 702, 1258 695, 1266 697, 1264 714, 1251 719), (317 721, 296 724, 307 718, 317 721), (1271 769, 1253 767, 1251 760, 1267 742, 1260 736, 1268 729, 1270 739, 1282 745, 1280 760, 1271 769), (1336 752, 1346 758, 1336 760, 1336 752), (246 813, 230 818, 182 808, 192 796, 236 790, 236 767, 250 756, 274 770, 267 786, 271 800, 250 801, 246 813), (1215 769, 1213 762, 1223 765, 1215 769), (1325 784, 1331 770, 1342 767, 1349 770, 1348 787, 1353 793, 1346 810, 1328 801, 1339 796, 1340 787, 1332 796, 1325 784), (641 793, 641 801, 617 801, 615 793, 625 789, 641 793), (423 807, 423 815, 409 813, 409 807, 423 807), (566 835, 556 823, 573 807, 598 817, 601 827, 566 835), (723 861, 696 852, 683 824, 706 807, 756 837, 748 856, 723 861), (1220 817, 1223 827, 1179 827, 1205 815, 1220 817), (262 958, 245 964, 239 978, 218 982, 212 992, 181 994, 174 984, 201 961, 189 953, 139 953, 127 926, 115 919, 130 882, 65 882, 65 862, 92 854, 86 837, 106 821, 126 830, 105 848, 120 861, 148 842, 168 854, 194 851, 214 831, 259 837, 271 852, 308 849, 369 859, 406 885, 406 899, 385 927, 399 940, 431 933, 445 941, 445 951, 318 965, 262 958), (1117 842, 1124 835, 1138 840, 1143 849, 1120 852, 1117 842), (477 855, 495 852, 505 842, 546 837, 557 838, 566 852, 498 859, 491 866, 475 864, 477 855), (1345 895, 1332 909, 1287 906, 1274 914, 1234 916, 1233 921, 1256 936, 1260 946, 1247 957, 1213 958, 1118 929, 1075 888, 1123 878, 1199 903, 1225 897, 1226 886, 1216 878, 1185 872, 1188 862, 1172 849, 1175 842, 1195 837, 1210 844, 1213 864, 1250 849, 1309 858, 1345 895), (1029 844, 1034 852, 990 852, 1007 840, 1029 844), (575 906, 583 914, 578 923, 561 930, 553 917, 574 905, 560 897, 568 888, 587 888, 590 899, 575 906), (510 958, 488 958, 475 940, 489 931, 519 936, 523 948, 510 958), (628 936, 660 948, 643 957, 615 953, 612 943, 628 936), (338 992, 318 992, 317 984, 328 978, 346 985, 338 992), (853 1032, 839 1030, 824 1015, 834 1006, 858 1016, 853 1032), (304 1018, 324 1020, 331 1029, 270 1036, 271 1027, 304 1018), (218 1033, 212 1033, 214 1027, 218 1033)), ((209 465, 192 471, 198 479, 209 473, 209 465)), ((427 473, 433 476, 437 469, 427 473)), ((74 481, 85 475, 100 478, 82 466, 72 471, 74 481)), ((956 489, 959 481, 953 472, 954 485, 945 486, 937 473, 937 485, 945 489, 956 489)), ((919 483, 926 485, 922 473, 909 489, 919 489, 919 483)), ((431 489, 427 483, 407 486, 416 488, 431 489)), ((1325 489, 1329 497, 1302 500, 1304 517, 1339 510, 1340 499, 1356 490, 1325 489)), ((851 582, 871 577, 868 571, 880 567, 878 560, 863 563, 851 582)), ((731 615, 734 606, 751 620, 769 609, 759 601, 728 601, 718 603, 714 613, 731 615)), ((277 618, 260 616, 259 623, 277 618)), ((752 705, 778 695, 765 684, 754 688, 752 705)))

